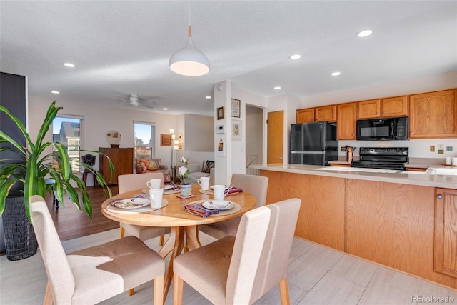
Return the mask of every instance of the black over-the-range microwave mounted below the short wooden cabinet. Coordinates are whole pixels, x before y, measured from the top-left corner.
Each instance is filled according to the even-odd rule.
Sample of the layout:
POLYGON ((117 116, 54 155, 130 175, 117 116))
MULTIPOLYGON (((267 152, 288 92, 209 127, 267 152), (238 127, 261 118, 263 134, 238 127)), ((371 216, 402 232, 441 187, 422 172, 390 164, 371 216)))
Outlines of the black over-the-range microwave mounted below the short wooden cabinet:
POLYGON ((408 116, 357 120, 357 140, 393 141, 408 139, 408 116))

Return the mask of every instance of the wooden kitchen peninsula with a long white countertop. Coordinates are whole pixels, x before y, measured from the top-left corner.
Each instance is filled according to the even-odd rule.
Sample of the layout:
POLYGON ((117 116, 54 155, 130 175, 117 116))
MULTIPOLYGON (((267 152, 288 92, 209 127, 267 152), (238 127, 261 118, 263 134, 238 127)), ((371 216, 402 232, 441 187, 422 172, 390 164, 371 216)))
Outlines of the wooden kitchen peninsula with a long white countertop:
POLYGON ((457 169, 256 165, 267 204, 301 199, 296 236, 457 289, 457 169))

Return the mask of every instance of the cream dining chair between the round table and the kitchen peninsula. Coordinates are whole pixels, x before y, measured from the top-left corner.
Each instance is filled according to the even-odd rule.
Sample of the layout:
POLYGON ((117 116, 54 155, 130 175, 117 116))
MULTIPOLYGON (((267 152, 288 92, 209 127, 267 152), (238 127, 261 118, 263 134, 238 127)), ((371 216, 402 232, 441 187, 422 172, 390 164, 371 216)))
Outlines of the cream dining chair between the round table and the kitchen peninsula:
MULTIPOLYGON (((232 174, 230 185, 241 187, 244 191, 251 193, 256 198, 256 208, 265 205, 268 177, 232 174)), ((240 220, 241 216, 226 221, 220 221, 215 224, 204 224, 199 226, 199 230, 213 236, 215 239, 221 239, 228 235, 235 236, 240 220)))

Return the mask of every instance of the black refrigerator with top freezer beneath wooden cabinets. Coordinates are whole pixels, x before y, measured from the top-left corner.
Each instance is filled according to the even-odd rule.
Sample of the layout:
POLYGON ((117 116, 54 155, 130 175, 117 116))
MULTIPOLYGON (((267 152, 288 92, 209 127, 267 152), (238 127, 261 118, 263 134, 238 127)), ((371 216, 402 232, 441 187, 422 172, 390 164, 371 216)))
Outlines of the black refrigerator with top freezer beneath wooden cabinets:
POLYGON ((328 165, 328 161, 338 160, 336 124, 292 124, 290 148, 291 164, 328 165))

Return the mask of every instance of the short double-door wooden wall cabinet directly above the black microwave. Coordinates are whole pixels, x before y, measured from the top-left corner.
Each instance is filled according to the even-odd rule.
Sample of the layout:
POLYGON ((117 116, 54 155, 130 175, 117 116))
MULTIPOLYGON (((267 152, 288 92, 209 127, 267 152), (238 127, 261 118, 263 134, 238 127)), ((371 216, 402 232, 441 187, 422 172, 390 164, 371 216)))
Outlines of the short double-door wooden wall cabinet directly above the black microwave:
POLYGON ((408 96, 372 99, 358 102, 358 119, 386 118, 408 115, 408 96))

